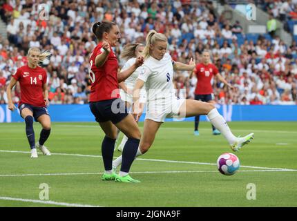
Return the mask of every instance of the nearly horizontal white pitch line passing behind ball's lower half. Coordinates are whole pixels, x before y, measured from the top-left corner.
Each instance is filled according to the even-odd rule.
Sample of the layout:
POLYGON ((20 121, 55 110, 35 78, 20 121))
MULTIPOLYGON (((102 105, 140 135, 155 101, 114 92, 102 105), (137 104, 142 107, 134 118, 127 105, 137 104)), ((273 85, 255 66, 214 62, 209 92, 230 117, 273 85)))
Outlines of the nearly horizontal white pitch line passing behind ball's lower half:
MULTIPOLYGON (((296 172, 297 170, 239 170, 238 172, 296 172)), ((145 173, 218 173, 218 171, 137 171, 134 174, 145 173)), ((103 173, 35 173, 35 174, 0 174, 0 177, 26 177, 26 176, 55 176, 55 175, 102 175, 103 173)))

